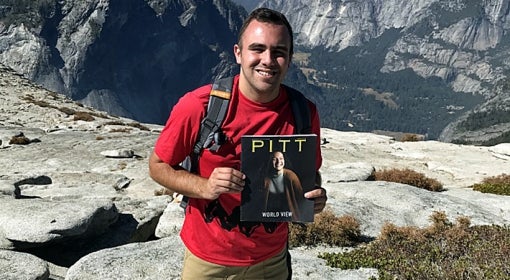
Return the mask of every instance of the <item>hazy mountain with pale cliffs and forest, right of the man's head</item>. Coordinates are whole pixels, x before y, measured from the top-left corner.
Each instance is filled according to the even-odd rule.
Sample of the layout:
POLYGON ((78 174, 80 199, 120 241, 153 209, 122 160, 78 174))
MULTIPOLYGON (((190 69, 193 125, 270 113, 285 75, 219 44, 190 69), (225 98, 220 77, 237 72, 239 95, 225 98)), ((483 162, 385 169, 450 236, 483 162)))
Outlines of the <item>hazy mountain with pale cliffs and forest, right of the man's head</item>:
POLYGON ((509 141, 509 1, 265 0, 259 6, 289 15, 302 51, 297 60, 309 81, 329 89, 325 99, 337 108, 323 106, 323 119, 336 128, 509 141))

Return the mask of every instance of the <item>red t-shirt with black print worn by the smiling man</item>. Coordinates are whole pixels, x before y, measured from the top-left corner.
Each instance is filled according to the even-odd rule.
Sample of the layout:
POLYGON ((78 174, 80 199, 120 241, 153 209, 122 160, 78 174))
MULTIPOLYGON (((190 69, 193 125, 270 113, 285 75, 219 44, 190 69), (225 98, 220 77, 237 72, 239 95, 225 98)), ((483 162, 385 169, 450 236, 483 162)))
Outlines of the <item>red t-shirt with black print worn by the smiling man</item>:
MULTIPOLYGON (((269 103, 253 102, 234 87, 222 130, 227 136, 218 151, 204 150, 198 173, 208 178, 215 167, 240 169, 241 136, 293 134, 294 117, 285 89, 269 103)), ((193 150, 200 121, 205 116, 211 85, 185 94, 174 106, 155 145, 155 153, 164 162, 177 165, 193 150)), ((320 139, 320 124, 315 105, 309 102, 312 131, 320 139)), ((319 141, 318 141, 319 142, 319 141)), ((315 167, 321 166, 317 143, 315 167)), ((226 266, 247 266, 266 260, 283 250, 287 242, 287 223, 239 221, 240 194, 223 194, 217 200, 189 199, 181 238, 196 256, 226 266)))

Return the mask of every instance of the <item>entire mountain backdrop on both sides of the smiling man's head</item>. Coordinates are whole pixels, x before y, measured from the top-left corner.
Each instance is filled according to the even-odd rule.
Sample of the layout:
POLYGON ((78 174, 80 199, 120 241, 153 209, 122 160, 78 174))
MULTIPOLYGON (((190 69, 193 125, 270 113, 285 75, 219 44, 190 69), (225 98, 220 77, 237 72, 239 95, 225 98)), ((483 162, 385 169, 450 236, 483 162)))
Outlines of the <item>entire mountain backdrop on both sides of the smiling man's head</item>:
POLYGON ((285 13, 286 83, 322 126, 509 141, 509 1, 3 0, 0 62, 74 100, 161 124, 186 91, 236 73, 248 10, 285 13))

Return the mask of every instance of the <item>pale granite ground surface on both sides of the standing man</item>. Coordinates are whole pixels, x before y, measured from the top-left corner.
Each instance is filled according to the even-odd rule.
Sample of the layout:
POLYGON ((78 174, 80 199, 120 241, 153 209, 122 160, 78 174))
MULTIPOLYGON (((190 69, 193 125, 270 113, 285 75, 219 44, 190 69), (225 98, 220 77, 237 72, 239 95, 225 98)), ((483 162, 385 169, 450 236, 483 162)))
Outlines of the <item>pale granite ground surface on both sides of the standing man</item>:
MULTIPOLYGON (((179 279, 183 212, 148 176, 161 126, 109 116, 0 71, 0 270, 8 279, 179 279), (77 113, 80 112, 80 113, 77 113), (86 114, 85 114, 86 113, 86 114), (83 120, 78 115, 93 118, 83 120), (14 136, 29 141, 14 144, 14 136), (130 151, 125 153, 125 151, 130 151), (131 152, 132 151, 132 152, 131 152), (49 271, 49 272, 48 272, 49 271)), ((362 233, 381 225, 426 226, 433 211, 473 224, 509 224, 510 198, 469 188, 510 173, 510 146, 396 142, 322 129, 328 208, 362 233), (365 181, 373 170, 410 168, 444 192, 365 181)), ((293 248, 294 279, 369 279, 374 269, 328 267, 319 252, 293 248)))

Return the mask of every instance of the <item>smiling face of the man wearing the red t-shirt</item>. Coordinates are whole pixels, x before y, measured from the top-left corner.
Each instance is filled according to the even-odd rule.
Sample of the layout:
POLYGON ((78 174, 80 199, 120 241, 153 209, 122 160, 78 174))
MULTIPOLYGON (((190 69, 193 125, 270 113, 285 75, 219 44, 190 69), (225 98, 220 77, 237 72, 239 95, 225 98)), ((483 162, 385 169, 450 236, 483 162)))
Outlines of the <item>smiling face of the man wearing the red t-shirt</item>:
POLYGON ((234 46, 236 61, 241 65, 239 88, 249 99, 270 102, 290 64, 290 35, 284 25, 253 20, 234 46))

